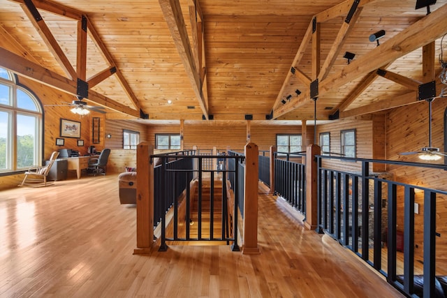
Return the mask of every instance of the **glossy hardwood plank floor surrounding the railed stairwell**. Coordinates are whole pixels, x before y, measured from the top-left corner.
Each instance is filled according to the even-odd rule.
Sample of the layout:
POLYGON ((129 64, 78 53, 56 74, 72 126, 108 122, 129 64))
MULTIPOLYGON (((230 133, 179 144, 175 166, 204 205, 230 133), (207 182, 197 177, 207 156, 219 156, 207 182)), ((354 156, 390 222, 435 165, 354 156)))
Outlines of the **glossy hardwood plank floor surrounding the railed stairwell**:
POLYGON ((169 246, 133 255, 117 175, 0 192, 0 297, 401 297, 259 188, 259 255, 169 246), (289 231, 289 232, 288 232, 289 231))

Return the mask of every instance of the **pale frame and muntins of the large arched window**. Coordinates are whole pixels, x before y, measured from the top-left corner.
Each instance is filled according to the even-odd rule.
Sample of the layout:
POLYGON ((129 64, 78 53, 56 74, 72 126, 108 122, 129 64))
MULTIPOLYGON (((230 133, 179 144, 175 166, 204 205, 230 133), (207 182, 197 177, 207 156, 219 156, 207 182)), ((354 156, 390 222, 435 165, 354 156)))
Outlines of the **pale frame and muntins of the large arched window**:
MULTIPOLYGON (((1 68, 2 70, 6 70, 1 68)), ((6 161, 5 168, 0 169, 0 175, 5 175, 13 172, 22 172, 27 170, 31 165, 43 165, 43 106, 41 100, 34 94, 33 91, 28 89, 22 84, 17 82, 17 77, 13 75, 9 70, 8 78, 0 77, 0 84, 7 86, 9 88, 9 102, 7 104, 0 104, 0 111, 6 112, 6 161), (24 108, 17 107, 18 96, 17 93, 21 91, 34 103, 36 110, 27 110, 24 108), (34 144, 33 144, 33 156, 32 164, 19 166, 18 156, 20 155, 17 151, 19 149, 17 136, 19 126, 17 124, 18 117, 32 117, 34 118, 34 144)))

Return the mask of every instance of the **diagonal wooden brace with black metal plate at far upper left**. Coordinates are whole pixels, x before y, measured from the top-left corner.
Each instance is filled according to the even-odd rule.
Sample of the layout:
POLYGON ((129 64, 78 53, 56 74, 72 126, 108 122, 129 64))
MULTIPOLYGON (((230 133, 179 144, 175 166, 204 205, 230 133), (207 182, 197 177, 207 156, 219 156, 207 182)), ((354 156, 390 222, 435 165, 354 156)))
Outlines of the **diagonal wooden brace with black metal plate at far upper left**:
POLYGON ((45 24, 41 13, 38 12, 36 6, 34 6, 33 1, 24 0, 24 4, 20 4, 20 6, 31 21, 31 24, 33 24, 33 26, 36 28, 36 31, 38 31, 45 45, 47 45, 48 50, 52 52, 54 59, 59 62, 59 65, 64 70, 66 75, 71 79, 75 79, 75 77, 77 77, 75 69, 73 68, 73 66, 71 66, 71 62, 66 57, 59 43, 57 43, 56 38, 54 38, 54 36, 52 35, 50 29, 47 27, 47 24, 45 24))

